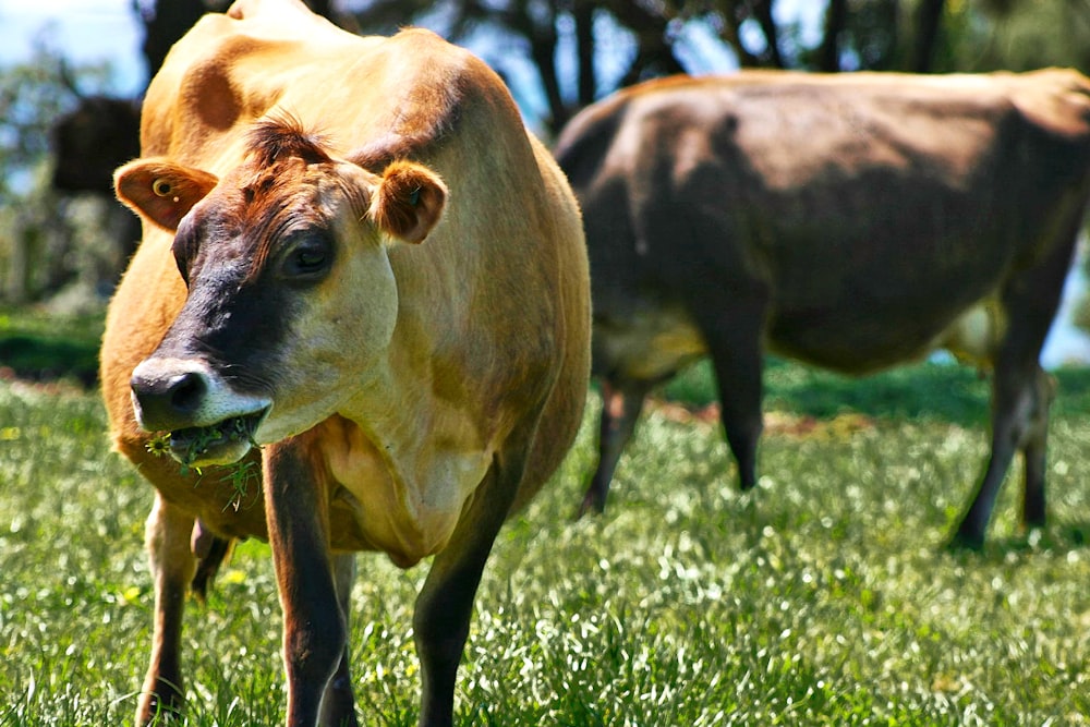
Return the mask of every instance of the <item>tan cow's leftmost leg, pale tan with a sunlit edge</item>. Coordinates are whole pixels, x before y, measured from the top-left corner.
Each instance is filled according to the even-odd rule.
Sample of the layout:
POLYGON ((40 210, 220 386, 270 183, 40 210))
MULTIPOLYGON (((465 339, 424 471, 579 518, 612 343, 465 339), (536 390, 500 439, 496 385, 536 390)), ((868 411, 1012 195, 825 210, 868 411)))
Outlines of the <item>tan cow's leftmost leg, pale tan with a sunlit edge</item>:
POLYGON ((145 537, 155 581, 152 664, 136 706, 136 724, 177 714, 183 701, 181 641, 185 594, 196 570, 190 549, 193 518, 157 493, 147 517, 145 537))

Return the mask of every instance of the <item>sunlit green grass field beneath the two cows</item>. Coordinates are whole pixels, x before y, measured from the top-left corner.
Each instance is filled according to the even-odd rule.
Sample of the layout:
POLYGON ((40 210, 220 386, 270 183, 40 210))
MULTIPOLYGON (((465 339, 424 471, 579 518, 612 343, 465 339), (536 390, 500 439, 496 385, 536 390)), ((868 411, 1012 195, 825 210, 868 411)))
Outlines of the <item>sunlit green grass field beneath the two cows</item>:
MULTIPOLYGON (((980 554, 943 543, 986 455, 986 385, 923 365, 848 383, 774 363, 755 492, 707 416, 658 405, 605 517, 573 523, 592 400, 552 487, 497 542, 462 665, 465 725, 1090 724, 1090 372, 1061 372, 1052 524, 1008 482, 980 554)), ((711 399, 706 368, 667 396, 711 399)), ((146 666, 149 487, 72 386, 0 381, 0 726, 128 724, 146 666)), ((366 725, 413 725, 426 571, 361 556, 366 725)), ((279 606, 246 543, 185 633, 185 724, 278 725, 279 606)))

